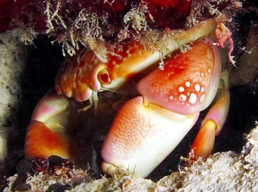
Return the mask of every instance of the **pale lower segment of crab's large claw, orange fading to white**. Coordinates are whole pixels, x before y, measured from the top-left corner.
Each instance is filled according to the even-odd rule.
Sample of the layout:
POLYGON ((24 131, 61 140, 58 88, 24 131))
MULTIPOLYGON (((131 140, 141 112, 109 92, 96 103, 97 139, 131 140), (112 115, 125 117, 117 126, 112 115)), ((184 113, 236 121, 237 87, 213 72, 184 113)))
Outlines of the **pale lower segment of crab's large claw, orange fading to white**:
POLYGON ((140 96, 130 99, 105 141, 103 170, 112 174, 118 167, 129 168, 148 176, 180 143, 198 116, 181 115, 155 104, 144 106, 140 96))

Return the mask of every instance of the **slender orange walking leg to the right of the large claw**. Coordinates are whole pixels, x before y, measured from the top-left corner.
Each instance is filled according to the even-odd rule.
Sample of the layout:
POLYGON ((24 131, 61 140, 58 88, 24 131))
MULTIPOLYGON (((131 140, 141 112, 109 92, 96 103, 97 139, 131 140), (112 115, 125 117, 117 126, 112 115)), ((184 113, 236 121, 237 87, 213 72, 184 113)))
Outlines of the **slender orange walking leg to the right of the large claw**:
POLYGON ((213 100, 211 109, 202 120, 195 141, 192 143, 188 159, 197 160, 199 157, 206 159, 213 150, 215 136, 220 134, 229 112, 229 73, 227 70, 221 74, 220 88, 213 100))

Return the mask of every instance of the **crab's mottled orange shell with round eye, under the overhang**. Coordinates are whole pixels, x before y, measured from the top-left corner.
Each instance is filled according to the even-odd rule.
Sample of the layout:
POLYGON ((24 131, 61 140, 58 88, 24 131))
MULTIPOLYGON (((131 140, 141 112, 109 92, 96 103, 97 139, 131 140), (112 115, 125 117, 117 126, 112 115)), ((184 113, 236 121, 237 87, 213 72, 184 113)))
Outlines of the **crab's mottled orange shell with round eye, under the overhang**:
MULTIPOLYGON (((183 45, 195 42, 199 38, 214 33, 215 22, 208 19, 187 31, 167 31, 157 47, 166 47, 163 56, 172 54, 183 45)), ((107 59, 101 61, 93 51, 82 51, 76 58, 63 63, 56 76, 56 92, 66 97, 73 97, 78 102, 91 98, 94 92, 116 90, 130 77, 160 61, 159 48, 144 49, 138 42, 128 42, 118 48, 100 43, 107 53, 107 59)))

